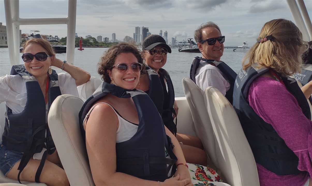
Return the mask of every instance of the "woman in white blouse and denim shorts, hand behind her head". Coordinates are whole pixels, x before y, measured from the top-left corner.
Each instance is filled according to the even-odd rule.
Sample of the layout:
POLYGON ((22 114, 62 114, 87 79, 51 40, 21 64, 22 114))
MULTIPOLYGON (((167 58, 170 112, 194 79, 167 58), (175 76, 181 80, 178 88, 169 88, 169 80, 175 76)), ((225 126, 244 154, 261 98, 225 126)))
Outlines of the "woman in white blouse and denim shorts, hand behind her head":
POLYGON ((57 59, 43 39, 28 40, 23 52, 24 64, 14 65, 12 75, 0 78, 0 103, 5 101, 7 106, 0 169, 20 182, 69 185, 65 171, 56 165, 60 161, 47 128, 47 114, 58 95, 79 97, 76 86, 87 82, 90 74, 57 59), (56 74, 51 66, 67 73, 56 74))

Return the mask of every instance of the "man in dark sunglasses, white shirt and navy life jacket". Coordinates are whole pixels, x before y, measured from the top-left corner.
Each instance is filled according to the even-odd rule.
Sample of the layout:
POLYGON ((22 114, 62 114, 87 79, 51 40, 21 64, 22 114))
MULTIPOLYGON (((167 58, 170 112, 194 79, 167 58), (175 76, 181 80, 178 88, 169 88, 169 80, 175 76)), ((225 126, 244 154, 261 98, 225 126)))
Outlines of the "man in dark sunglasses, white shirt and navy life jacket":
POLYGON ((195 57, 191 65, 191 79, 202 90, 209 86, 216 87, 232 104, 233 87, 236 73, 224 62, 223 55, 225 36, 221 35, 219 26, 207 22, 194 32, 202 57, 195 57))

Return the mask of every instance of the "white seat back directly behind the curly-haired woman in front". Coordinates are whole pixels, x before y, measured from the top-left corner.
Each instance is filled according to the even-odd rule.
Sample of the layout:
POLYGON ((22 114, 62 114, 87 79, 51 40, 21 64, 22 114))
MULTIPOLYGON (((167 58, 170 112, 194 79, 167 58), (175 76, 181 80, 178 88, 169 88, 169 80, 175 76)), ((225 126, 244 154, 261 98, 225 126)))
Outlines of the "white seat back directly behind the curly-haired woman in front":
POLYGON ((70 94, 58 96, 48 114, 48 125, 71 185, 94 185, 78 113, 83 101, 70 94))

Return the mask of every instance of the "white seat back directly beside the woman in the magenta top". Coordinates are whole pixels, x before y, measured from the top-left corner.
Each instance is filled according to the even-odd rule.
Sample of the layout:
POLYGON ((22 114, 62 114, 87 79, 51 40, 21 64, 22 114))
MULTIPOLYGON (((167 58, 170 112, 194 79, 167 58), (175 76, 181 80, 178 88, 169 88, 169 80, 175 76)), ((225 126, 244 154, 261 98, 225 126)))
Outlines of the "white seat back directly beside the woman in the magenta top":
POLYGON ((215 87, 204 96, 216 136, 217 168, 230 185, 258 185, 256 162, 231 103, 215 87))

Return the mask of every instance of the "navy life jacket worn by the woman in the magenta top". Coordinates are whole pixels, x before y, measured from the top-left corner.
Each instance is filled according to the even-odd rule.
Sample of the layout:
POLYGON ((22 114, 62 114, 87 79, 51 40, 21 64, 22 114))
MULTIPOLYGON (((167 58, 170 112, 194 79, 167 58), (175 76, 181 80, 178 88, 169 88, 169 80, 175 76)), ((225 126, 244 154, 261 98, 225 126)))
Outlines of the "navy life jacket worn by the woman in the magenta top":
MULTIPOLYGON (((273 126, 265 122, 246 101, 249 86, 254 79, 268 72, 267 68, 249 67, 238 73, 233 93, 233 107, 241 122, 257 163, 277 175, 300 174, 299 159, 276 133, 273 126)), ((278 74, 287 90, 297 99, 305 116, 311 120, 308 102, 295 79, 278 74)))

